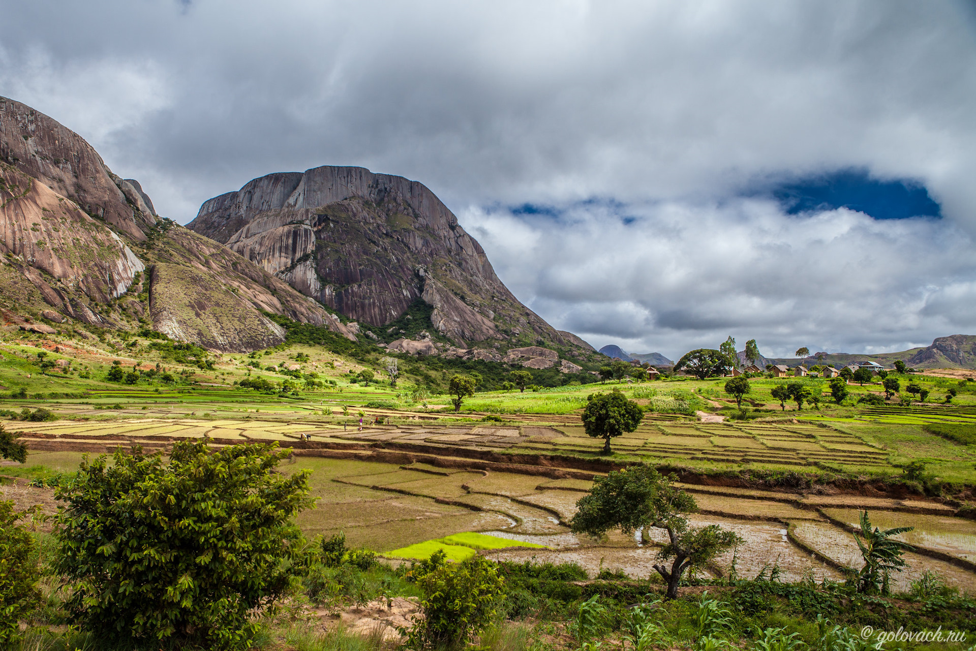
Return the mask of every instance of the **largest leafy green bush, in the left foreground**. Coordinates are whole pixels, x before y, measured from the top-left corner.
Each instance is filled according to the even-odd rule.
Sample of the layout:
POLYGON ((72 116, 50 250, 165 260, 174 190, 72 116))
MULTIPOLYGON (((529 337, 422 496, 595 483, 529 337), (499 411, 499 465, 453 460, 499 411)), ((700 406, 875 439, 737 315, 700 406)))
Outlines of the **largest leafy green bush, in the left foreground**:
POLYGON ((73 621, 116 639, 243 645, 252 616, 296 579, 292 518, 309 506, 307 473, 278 474, 276 444, 216 452, 178 442, 168 462, 141 449, 86 460, 62 487, 58 569, 73 621))

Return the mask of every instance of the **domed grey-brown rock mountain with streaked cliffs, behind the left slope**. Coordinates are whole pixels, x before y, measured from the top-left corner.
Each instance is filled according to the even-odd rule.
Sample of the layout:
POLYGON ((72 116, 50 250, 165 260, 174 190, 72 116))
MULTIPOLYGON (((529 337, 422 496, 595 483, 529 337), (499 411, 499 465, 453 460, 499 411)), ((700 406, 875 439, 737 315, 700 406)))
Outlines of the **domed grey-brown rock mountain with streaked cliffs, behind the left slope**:
POLYGON ((204 202, 187 225, 372 326, 422 298, 434 328, 458 346, 589 347, 519 303, 422 183, 359 167, 273 174, 204 202))

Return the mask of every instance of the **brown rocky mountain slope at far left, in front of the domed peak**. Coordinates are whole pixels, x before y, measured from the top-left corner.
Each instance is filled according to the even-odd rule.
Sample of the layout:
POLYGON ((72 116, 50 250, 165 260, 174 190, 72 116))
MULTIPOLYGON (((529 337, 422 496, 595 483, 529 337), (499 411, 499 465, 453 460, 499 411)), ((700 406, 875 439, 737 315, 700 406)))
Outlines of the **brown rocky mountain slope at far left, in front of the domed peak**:
POLYGON ((140 183, 113 174, 88 142, 5 98, 0 254, 0 308, 12 323, 20 315, 108 328, 148 322, 183 341, 249 350, 284 338, 264 310, 354 338, 262 266, 156 216, 140 183))

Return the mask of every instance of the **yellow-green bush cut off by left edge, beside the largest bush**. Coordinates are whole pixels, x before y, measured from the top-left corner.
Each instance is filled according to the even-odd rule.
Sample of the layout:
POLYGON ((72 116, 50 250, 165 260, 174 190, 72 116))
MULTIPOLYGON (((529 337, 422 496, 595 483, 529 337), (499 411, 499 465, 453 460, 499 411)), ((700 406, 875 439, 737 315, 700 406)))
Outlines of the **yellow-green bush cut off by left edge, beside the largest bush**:
POLYGON ((18 622, 41 601, 34 539, 19 523, 28 513, 0 501, 0 647, 5 649, 20 639, 18 622))

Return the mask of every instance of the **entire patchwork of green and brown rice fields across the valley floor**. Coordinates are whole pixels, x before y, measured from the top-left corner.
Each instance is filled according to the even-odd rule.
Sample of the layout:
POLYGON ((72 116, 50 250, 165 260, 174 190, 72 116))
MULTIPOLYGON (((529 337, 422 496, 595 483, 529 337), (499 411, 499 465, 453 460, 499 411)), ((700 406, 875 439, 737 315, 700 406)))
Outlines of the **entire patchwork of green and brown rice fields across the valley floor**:
MULTIPOLYGON (((72 368, 98 376, 121 353, 100 352, 94 343, 53 347, 0 342, 0 409, 6 410, 0 423, 30 452, 24 465, 2 462, 0 475, 20 483, 0 484, 0 499, 7 496, 19 506, 36 499, 45 509, 56 509, 50 489, 25 487, 22 480, 71 472, 86 453, 135 445, 165 453, 176 440, 203 437, 214 446, 273 441, 293 452, 281 471, 310 471, 316 504, 299 516, 310 537, 344 532, 349 545, 375 549, 393 561, 445 549, 457 558, 483 553, 575 561, 590 576, 609 569, 647 578, 654 574, 651 565, 663 542, 660 531, 594 540, 572 534, 567 526, 577 501, 607 463, 641 461, 699 473, 680 484, 698 502, 693 522, 719 524, 744 539, 739 549, 703 570, 708 575, 752 578, 776 568, 785 580, 839 580, 844 568, 858 567, 850 530, 859 509, 868 509, 883 528, 915 527, 902 535, 915 549, 908 555, 911 567, 895 579, 898 587, 928 569, 950 585, 976 591, 976 522, 957 516, 957 505, 917 493, 874 488, 859 493, 856 487, 897 479, 910 463, 921 462, 927 480, 953 484, 971 496, 976 445, 925 427, 976 425, 972 383, 963 382, 946 404, 946 392, 957 387, 956 381, 920 378, 932 391, 932 402, 865 406, 856 398, 877 393, 877 385, 851 385, 852 399, 834 405, 826 384, 804 379, 824 401, 820 408, 797 409, 771 397, 772 388, 786 380, 755 379, 746 420, 729 418, 737 410, 722 390, 724 380, 715 379, 484 391, 453 413, 448 396, 421 402, 408 397, 409 383, 395 388, 388 382, 354 383, 348 371, 367 363, 313 346, 265 351, 264 370, 245 366, 252 362, 242 355, 224 356, 206 372, 173 364, 173 372, 184 373, 182 384, 132 387, 83 379, 81 373, 32 370, 29 359, 46 350, 52 359, 69 358, 72 368), (298 352, 306 355, 303 372, 318 373, 332 384, 298 396, 233 386, 252 372, 251 377, 286 379, 278 372, 281 364, 298 352), (25 388, 28 397, 2 397, 15 387, 25 388), (615 388, 647 413, 634 431, 612 440, 613 454, 604 457, 603 441, 586 434, 580 415, 587 395, 615 388), (23 409, 40 407, 58 420, 16 418, 23 409), (712 485, 723 482, 710 479, 752 471, 816 478, 817 489, 712 485), (836 477, 850 485, 835 482, 836 477)), ((126 364, 140 362, 126 359, 126 364)))

